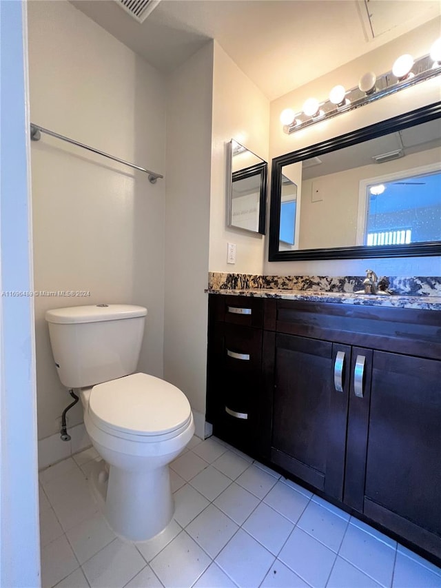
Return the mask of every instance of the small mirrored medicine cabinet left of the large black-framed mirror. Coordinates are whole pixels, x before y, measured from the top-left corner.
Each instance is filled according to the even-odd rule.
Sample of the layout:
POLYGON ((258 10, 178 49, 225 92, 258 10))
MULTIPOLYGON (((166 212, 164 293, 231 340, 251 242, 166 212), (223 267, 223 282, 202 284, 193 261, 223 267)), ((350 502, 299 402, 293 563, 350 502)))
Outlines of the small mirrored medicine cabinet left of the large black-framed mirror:
POLYGON ((227 225, 265 234, 268 164, 234 139, 227 158, 227 225))

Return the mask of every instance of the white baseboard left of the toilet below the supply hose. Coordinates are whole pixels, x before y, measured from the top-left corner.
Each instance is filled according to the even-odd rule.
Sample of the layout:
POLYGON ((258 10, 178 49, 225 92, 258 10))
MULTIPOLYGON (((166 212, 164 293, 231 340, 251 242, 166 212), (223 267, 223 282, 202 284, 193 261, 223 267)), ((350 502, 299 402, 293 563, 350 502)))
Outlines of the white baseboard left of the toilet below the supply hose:
POLYGON ((53 465, 92 445, 84 423, 69 427, 68 433, 71 437, 69 441, 62 441, 59 433, 39 440, 39 469, 53 465))

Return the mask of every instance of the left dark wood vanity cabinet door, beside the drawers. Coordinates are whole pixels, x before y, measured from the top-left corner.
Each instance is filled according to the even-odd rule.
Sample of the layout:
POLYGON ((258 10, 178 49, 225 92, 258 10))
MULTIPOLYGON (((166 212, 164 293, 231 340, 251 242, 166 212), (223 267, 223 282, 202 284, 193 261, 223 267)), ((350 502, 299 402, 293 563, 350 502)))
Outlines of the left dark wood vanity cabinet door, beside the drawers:
POLYGON ((334 368, 350 349, 285 334, 275 341, 271 461, 341 499, 349 378, 343 360, 337 391, 334 368))

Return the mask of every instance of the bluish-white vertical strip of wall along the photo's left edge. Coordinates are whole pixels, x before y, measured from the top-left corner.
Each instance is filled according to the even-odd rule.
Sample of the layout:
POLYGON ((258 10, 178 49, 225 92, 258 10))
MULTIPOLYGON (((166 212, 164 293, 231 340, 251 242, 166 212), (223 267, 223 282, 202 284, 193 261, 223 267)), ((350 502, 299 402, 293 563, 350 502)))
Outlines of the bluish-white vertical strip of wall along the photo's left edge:
POLYGON ((0 2, 0 585, 40 585, 25 3, 0 2))

